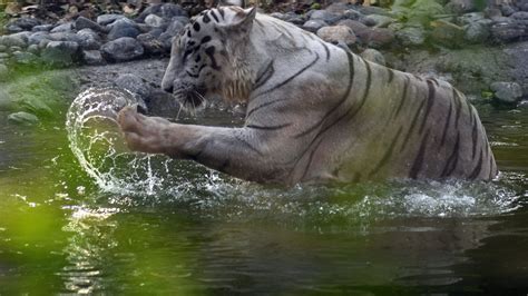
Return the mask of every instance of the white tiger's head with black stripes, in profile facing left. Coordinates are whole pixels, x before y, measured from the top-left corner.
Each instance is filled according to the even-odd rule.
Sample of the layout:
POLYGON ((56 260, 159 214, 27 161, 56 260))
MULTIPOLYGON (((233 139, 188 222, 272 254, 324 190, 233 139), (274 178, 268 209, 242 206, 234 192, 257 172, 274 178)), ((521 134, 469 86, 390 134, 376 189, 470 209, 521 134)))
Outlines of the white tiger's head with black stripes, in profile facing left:
POLYGON ((255 8, 221 7, 193 18, 173 40, 162 88, 187 109, 213 95, 247 100, 253 75, 244 57, 255 14, 255 8))

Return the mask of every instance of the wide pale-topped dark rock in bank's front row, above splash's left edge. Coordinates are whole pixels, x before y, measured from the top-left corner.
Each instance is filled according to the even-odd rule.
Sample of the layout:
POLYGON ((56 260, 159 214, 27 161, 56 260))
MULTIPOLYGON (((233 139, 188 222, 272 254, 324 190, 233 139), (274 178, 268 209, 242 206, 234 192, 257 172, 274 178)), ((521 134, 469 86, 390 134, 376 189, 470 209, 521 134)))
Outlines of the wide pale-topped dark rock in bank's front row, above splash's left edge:
POLYGON ((77 58, 79 43, 72 41, 50 41, 41 52, 46 63, 53 66, 70 66, 77 58))

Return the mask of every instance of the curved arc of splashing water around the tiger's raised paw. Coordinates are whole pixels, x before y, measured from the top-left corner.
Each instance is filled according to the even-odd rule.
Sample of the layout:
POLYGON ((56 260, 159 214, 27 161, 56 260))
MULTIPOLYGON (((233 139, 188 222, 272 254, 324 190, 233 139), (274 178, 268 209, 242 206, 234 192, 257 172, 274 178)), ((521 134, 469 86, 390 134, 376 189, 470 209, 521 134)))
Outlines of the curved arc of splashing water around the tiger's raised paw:
POLYGON ((117 112, 138 101, 133 93, 115 88, 90 88, 80 93, 67 114, 71 151, 104 191, 151 196, 167 188, 177 190, 177 161, 126 148, 117 112))

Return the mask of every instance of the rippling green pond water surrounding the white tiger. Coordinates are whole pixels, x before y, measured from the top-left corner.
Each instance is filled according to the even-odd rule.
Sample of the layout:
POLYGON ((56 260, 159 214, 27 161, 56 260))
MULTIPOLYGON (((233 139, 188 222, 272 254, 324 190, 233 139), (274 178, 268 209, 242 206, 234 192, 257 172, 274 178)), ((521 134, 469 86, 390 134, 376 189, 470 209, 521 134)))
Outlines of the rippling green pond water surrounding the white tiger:
POLYGON ((282 188, 176 161, 124 193, 80 167, 57 108, 0 112, 1 295, 528 293, 528 109, 478 106, 493 182, 282 188))

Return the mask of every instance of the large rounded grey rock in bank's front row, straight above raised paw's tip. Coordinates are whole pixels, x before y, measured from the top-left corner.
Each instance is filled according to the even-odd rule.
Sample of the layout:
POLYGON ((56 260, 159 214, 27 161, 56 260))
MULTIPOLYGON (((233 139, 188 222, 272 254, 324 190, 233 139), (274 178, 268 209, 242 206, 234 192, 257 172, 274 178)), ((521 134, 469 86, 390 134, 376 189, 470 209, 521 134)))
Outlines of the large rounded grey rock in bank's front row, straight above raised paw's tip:
POLYGON ((126 61, 139 58, 144 53, 141 43, 134 38, 123 37, 101 47, 102 57, 110 61, 126 61))

